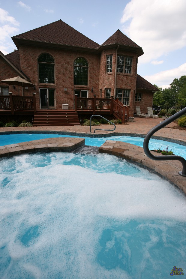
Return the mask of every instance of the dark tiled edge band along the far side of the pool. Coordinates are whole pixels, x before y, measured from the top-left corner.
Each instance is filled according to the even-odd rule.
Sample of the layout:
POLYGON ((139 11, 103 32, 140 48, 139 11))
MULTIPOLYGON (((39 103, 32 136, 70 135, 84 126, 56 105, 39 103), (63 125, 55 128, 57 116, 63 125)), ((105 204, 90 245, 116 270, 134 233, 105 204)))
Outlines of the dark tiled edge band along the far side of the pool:
MULTIPOLYGON (((112 136, 128 136, 128 137, 142 137, 145 138, 146 134, 137 134, 137 133, 123 133, 123 132, 112 132, 107 134, 93 134, 93 133, 81 133, 81 132, 68 132, 68 131, 7 131, 7 132, 0 132, 0 135, 9 135, 9 134, 58 134, 58 135, 68 135, 68 136, 77 136, 77 137, 112 137, 112 136)), ((165 140, 171 143, 178 143, 180 145, 186 146, 186 140, 179 140, 174 139, 172 137, 162 137, 162 136, 155 136, 151 137, 155 140, 165 140)))

